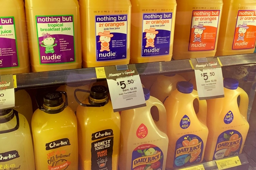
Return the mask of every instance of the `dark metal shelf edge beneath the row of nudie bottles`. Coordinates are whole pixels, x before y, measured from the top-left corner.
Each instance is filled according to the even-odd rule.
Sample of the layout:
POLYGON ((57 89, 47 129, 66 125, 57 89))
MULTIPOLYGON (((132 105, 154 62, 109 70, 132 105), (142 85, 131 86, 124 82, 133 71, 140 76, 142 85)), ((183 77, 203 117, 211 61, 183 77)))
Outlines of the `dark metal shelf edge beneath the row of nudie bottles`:
MULTIPOLYGON (((219 57, 223 67, 256 64, 256 54, 229 55, 219 57)), ((189 59, 168 62, 136 64, 140 75, 170 74, 192 71, 189 59)), ((95 68, 31 72, 17 74, 17 89, 37 88, 72 82, 95 80, 95 68)))

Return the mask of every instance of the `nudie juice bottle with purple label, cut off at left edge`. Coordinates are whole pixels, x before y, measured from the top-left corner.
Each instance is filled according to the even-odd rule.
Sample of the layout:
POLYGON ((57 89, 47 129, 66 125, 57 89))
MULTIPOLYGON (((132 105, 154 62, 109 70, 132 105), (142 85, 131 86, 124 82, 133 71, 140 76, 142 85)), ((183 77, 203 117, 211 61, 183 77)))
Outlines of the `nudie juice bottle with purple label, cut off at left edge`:
POLYGON ((0 0, 0 75, 29 72, 24 2, 0 0))

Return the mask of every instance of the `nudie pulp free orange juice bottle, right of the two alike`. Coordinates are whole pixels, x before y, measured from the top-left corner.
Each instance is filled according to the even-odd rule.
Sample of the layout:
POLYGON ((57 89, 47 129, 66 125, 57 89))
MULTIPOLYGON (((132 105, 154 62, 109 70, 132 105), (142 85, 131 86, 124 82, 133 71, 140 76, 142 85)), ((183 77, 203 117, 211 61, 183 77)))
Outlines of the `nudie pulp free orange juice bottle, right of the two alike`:
POLYGON ((131 62, 172 59, 176 0, 131 0, 131 62))

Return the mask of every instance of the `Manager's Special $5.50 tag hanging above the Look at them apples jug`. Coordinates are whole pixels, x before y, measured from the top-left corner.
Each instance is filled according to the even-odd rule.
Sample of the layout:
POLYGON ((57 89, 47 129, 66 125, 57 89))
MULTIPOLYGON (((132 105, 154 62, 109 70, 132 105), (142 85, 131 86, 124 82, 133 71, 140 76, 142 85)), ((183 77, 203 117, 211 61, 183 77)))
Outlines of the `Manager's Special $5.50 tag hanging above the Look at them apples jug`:
POLYGON ((114 112, 146 106, 135 64, 127 65, 125 70, 117 70, 116 66, 104 69, 114 112))

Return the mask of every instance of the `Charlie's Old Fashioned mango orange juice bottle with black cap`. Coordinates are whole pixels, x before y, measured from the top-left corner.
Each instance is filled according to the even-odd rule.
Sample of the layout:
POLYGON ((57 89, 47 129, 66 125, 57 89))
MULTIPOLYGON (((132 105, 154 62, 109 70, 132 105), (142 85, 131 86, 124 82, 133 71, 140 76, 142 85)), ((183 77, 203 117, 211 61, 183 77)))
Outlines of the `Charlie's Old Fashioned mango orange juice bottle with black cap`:
POLYGON ((73 110, 54 91, 37 96, 32 117, 36 170, 78 170, 77 121, 73 110))

